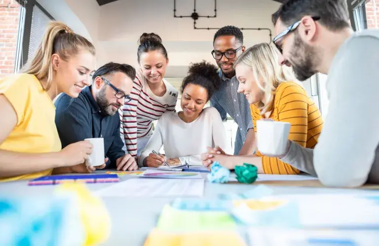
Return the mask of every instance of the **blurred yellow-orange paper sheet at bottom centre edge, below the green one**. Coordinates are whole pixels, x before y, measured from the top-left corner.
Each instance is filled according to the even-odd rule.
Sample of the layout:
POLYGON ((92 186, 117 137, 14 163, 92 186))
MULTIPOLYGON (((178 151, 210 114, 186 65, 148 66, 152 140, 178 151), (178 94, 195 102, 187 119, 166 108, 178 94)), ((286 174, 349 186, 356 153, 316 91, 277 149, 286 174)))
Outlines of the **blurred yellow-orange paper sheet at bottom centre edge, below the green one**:
POLYGON ((234 231, 172 233, 153 229, 144 246, 246 246, 234 231))

